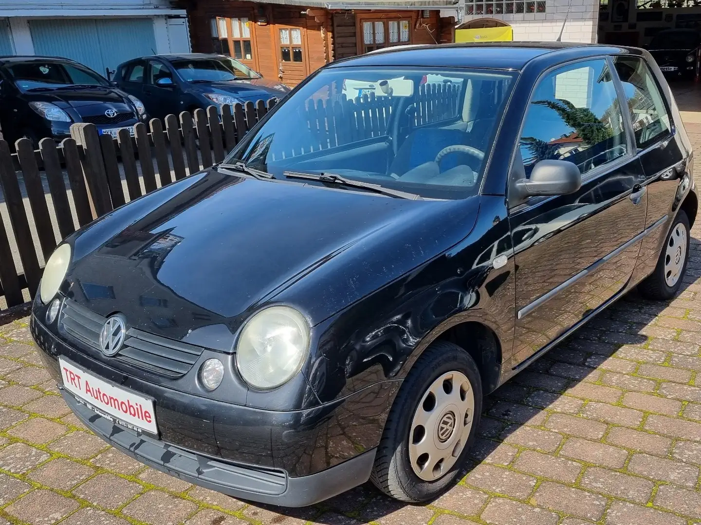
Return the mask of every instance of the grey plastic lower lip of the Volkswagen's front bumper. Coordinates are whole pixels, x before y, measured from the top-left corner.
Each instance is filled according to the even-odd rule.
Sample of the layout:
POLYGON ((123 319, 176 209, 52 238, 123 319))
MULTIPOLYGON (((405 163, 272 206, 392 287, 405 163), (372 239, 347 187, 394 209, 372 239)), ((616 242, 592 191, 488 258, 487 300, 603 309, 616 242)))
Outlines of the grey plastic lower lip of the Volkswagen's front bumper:
POLYGON ((137 435, 77 402, 71 393, 62 389, 61 394, 85 426, 124 454, 186 482, 235 498, 285 507, 312 505, 365 483, 375 461, 375 449, 372 449, 322 472, 288 477, 283 470, 224 463, 137 435))

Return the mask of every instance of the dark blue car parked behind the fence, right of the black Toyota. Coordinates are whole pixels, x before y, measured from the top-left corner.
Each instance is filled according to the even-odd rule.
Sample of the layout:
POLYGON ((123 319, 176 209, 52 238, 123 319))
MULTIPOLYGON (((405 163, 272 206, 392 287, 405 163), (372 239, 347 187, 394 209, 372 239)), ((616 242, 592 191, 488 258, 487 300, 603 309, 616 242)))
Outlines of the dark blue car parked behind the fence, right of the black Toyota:
POLYGON ((290 87, 224 55, 153 55, 118 66, 114 83, 144 102, 155 118, 207 106, 282 99, 290 87))

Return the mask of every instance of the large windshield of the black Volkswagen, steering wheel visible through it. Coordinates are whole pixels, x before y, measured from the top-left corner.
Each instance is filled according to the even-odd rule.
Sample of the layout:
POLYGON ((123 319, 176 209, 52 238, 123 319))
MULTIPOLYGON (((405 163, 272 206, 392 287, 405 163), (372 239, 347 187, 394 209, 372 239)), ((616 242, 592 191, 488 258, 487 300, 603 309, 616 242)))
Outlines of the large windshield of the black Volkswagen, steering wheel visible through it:
POLYGON ((514 79, 485 69, 324 69, 226 162, 278 179, 336 174, 422 197, 469 197, 514 79))

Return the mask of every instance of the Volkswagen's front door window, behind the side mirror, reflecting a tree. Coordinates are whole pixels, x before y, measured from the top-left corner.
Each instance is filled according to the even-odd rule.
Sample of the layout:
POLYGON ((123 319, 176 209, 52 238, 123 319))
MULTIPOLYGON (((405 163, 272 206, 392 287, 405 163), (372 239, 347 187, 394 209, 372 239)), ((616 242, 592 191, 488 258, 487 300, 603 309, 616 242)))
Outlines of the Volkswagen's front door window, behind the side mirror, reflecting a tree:
POLYGON ((584 175, 625 155, 625 126, 606 60, 576 62, 541 78, 519 146, 526 176, 540 160, 573 162, 584 175))

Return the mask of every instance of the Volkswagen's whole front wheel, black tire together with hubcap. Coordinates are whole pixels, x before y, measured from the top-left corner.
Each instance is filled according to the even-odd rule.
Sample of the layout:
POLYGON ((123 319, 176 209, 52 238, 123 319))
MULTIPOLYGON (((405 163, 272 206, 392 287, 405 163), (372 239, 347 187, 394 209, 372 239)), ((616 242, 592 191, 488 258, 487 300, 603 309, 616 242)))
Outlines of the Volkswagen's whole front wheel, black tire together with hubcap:
POLYGON ((420 503, 436 498, 453 484, 463 469, 475 441, 481 413, 482 381, 475 361, 456 344, 434 342, 416 360, 397 393, 370 480, 383 493, 397 500, 420 503), (465 381, 468 382, 467 389, 464 388, 465 381), (446 389, 446 382, 451 386, 450 392, 446 389), (434 391, 437 395, 433 394, 434 391), (430 406, 432 395, 433 407, 430 406), (471 414, 470 395, 473 400, 471 414), (452 427, 449 414, 452 414, 452 427), (428 428, 418 423, 424 421, 428 428), (461 421, 464 425, 462 433, 461 421), (469 421, 470 428, 464 421, 469 421), (445 449, 437 450, 436 445, 445 449), (432 454, 426 453, 428 461, 426 456, 417 456, 429 449, 432 454, 435 449, 436 454, 430 457, 432 454), (435 462, 437 456, 447 458, 435 462), (437 463, 440 463, 440 468, 436 470, 437 463), (425 465, 423 470, 422 464, 425 465), (415 468, 421 471, 421 477, 415 468))

